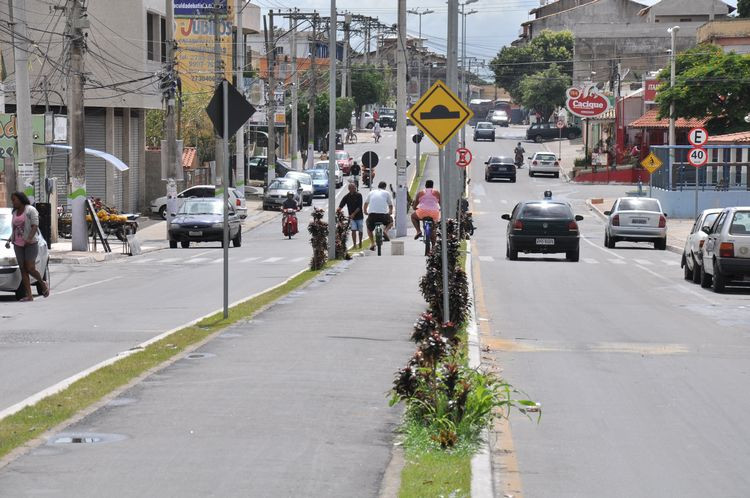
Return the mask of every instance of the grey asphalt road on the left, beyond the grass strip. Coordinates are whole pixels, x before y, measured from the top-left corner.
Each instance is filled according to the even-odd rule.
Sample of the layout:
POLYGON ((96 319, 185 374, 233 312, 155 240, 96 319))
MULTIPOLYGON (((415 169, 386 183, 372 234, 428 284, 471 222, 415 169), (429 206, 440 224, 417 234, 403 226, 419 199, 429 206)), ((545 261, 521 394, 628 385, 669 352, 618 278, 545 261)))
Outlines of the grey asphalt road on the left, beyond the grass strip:
MULTIPOLYGON (((382 164, 377 178, 395 182, 395 166, 389 167, 395 133, 386 132, 380 144, 346 148, 358 160, 365 150, 376 151, 382 164)), ((410 150, 413 155, 413 146, 410 150)), ((314 205, 327 208, 327 199, 314 205)), ((293 240, 282 238, 279 221, 272 220, 245 233, 241 248, 230 249, 230 302, 306 267, 309 212, 301 214, 301 231, 293 240)), ((198 244, 104 264, 55 265, 49 299, 17 303, 12 295, 0 297, 0 411, 220 308, 221 258, 218 244, 198 244)))

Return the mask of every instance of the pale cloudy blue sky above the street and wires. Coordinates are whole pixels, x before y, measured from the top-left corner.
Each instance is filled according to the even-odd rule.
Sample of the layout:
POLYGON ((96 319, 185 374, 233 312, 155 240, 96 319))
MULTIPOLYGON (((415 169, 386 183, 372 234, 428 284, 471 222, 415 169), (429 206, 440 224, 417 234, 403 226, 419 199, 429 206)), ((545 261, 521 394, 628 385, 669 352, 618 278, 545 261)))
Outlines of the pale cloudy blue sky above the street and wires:
MULTIPOLYGON (((463 0, 459 0, 463 1, 463 0)), ((658 0, 638 0, 644 5, 653 5, 658 0)), ((736 0, 726 0, 728 4, 736 6, 736 0)), ((269 8, 288 10, 298 7, 300 10, 316 9, 323 15, 330 12, 330 0, 252 0, 263 8, 263 13, 269 8)), ((539 0, 477 0, 466 6, 466 12, 476 10, 477 13, 466 17, 468 57, 489 61, 498 50, 510 44, 518 37, 521 23, 528 20, 529 11, 539 6, 539 0)), ((397 0, 337 0, 336 9, 349 11, 354 14, 378 17, 385 24, 396 22, 397 0)), ((422 37, 426 38, 427 46, 435 52, 445 52, 447 4, 445 0, 407 0, 407 9, 435 12, 422 16, 422 37)), ((419 16, 407 15, 408 34, 417 36, 419 32, 419 16)), ((355 49, 356 42, 353 42, 355 49)))

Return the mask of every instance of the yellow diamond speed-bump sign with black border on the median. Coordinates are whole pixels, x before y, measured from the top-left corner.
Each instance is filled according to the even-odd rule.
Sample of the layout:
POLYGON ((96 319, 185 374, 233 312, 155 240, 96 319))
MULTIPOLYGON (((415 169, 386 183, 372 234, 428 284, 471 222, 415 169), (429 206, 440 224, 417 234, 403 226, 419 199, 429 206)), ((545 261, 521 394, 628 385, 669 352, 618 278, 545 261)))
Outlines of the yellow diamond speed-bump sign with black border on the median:
POLYGON ((438 80, 407 113, 417 127, 443 148, 474 115, 445 83, 438 80))

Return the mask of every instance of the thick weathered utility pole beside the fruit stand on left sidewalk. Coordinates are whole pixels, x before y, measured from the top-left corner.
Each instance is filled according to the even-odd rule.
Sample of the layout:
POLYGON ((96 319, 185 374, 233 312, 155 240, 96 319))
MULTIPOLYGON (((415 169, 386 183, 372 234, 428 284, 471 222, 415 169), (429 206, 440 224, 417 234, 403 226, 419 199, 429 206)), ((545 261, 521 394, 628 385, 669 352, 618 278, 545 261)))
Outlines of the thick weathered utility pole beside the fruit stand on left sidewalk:
POLYGON ((83 54, 86 43, 83 29, 88 28, 88 21, 83 18, 81 0, 72 0, 68 11, 67 31, 70 36, 70 55, 68 76, 68 129, 70 135, 70 162, 68 170, 68 202, 72 207, 72 249, 88 250, 88 229, 86 226, 86 162, 84 145, 84 106, 83 106, 83 54))

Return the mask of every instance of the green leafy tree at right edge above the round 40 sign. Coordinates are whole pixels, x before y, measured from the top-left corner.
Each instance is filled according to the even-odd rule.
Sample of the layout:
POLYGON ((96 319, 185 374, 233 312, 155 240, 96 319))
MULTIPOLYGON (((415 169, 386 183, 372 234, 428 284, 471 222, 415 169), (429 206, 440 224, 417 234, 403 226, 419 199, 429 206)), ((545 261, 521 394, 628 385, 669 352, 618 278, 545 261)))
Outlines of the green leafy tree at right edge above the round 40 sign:
POLYGON ((659 116, 669 117, 674 103, 676 117, 709 116, 709 132, 730 133, 747 129, 750 113, 750 56, 725 54, 717 45, 700 45, 677 55, 676 81, 670 88, 669 67, 659 74, 659 116))

